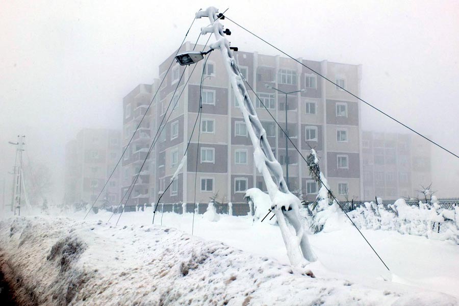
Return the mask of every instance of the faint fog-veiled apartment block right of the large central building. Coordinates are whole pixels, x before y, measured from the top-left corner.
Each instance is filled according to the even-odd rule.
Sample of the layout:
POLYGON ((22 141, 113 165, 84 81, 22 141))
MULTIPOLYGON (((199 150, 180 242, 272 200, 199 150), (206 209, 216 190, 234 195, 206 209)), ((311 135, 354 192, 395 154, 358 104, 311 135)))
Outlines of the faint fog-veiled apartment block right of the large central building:
POLYGON ((365 199, 419 196, 431 183, 430 148, 416 135, 363 132, 365 199))

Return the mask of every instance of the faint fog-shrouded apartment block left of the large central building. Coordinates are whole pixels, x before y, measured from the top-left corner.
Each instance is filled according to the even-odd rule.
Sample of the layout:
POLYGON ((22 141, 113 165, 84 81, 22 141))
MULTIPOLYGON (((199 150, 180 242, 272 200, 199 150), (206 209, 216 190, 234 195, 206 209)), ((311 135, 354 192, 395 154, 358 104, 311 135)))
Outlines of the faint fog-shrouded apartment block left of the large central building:
MULTIPOLYGON (((84 129, 66 145, 65 200, 92 205, 121 155, 121 133, 108 129, 84 129)), ((116 170, 95 207, 104 200, 116 206, 120 200, 120 171, 116 170)))

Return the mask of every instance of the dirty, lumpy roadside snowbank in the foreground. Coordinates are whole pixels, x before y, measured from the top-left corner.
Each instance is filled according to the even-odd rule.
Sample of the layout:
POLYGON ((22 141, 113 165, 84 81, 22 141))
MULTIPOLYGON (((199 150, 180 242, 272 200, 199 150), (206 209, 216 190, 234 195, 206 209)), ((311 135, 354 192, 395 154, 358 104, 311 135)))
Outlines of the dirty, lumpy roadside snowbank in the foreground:
POLYGON ((0 242, 7 280, 37 304, 457 304, 389 282, 373 289, 312 278, 305 269, 168 227, 20 217, 0 222, 0 242))

